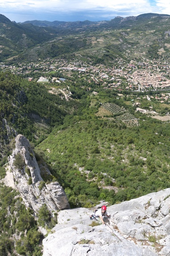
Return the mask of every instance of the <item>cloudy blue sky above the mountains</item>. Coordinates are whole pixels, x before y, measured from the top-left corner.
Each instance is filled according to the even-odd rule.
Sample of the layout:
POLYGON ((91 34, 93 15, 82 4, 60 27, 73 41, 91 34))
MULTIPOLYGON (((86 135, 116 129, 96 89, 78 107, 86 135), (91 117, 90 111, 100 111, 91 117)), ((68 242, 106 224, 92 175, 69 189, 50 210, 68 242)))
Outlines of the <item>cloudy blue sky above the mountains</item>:
POLYGON ((103 21, 142 13, 170 15, 167 0, 0 0, 11 21, 103 21))

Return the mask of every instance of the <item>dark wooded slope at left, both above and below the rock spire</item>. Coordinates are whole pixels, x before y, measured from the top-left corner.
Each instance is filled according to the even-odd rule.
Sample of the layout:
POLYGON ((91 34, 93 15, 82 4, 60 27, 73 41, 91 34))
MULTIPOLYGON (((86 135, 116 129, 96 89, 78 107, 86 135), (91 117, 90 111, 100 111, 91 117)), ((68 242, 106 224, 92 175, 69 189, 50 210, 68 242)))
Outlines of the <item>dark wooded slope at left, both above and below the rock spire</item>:
MULTIPOLYGON (((16 134, 23 134, 32 147, 44 140, 54 126, 63 124, 75 101, 48 92, 44 85, 21 79, 10 72, 0 73, 0 255, 40 256, 44 237, 38 226, 52 228, 56 220, 44 206, 35 218, 26 209, 19 193, 3 184, 8 156, 14 148, 16 134), (17 254, 18 253, 18 254, 17 254)), ((42 159, 40 155, 37 155, 42 159)), ((18 162, 17 162, 18 161, 18 162)), ((20 159, 16 157, 20 164, 20 159)))

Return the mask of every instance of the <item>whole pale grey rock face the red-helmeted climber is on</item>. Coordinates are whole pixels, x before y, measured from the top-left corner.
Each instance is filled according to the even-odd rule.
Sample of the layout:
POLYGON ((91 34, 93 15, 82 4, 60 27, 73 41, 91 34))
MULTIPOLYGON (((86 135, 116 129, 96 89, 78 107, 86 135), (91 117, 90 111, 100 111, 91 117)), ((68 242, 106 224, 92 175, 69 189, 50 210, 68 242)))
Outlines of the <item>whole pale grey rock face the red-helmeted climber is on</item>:
MULTIPOLYGON (((43 256, 170 256, 170 189, 107 208, 106 225, 90 226, 92 210, 59 212, 43 256)), ((94 222, 94 221, 93 221, 94 222)))

